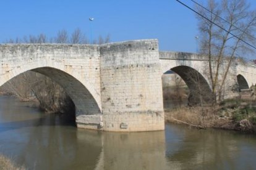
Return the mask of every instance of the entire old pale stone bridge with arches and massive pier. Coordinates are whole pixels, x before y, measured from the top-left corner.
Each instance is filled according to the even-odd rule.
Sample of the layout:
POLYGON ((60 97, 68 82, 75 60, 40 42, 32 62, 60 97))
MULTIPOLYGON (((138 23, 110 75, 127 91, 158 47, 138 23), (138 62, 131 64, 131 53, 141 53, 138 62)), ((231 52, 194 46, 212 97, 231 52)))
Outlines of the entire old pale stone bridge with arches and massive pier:
MULTIPOLYGON (((75 103, 77 127, 103 131, 164 129, 161 76, 173 70, 194 89, 186 73, 198 73, 208 92, 207 60, 182 52, 159 52, 156 39, 103 45, 1 44, 0 86, 28 70, 60 84, 75 103)), ((226 89, 248 89, 255 66, 235 63, 226 89)))

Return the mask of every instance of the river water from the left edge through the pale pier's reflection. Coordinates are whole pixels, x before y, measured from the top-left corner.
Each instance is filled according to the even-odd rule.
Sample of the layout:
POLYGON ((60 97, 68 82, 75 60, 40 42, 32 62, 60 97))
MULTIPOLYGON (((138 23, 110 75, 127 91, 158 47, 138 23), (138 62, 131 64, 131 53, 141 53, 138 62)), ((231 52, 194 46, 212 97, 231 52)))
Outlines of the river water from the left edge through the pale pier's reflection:
POLYGON ((64 115, 46 115, 10 97, 0 103, 0 152, 29 169, 164 168, 163 131, 76 129, 64 115))

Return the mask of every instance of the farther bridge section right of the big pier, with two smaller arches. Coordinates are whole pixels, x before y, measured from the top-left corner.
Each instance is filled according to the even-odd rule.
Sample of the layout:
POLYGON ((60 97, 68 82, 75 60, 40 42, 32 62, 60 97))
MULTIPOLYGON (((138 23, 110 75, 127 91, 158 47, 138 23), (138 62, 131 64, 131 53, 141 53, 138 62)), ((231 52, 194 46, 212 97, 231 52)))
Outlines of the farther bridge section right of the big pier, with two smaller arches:
MULTIPOLYGON (((198 101, 198 84, 202 86, 204 97, 211 93, 210 74, 208 72, 208 59, 206 56, 187 52, 159 52, 162 73, 172 70, 186 82, 191 97, 198 101), (196 76, 196 77, 195 77, 196 76), (197 80, 198 79, 198 80, 197 80)), ((228 63, 221 65, 221 71, 225 71, 228 63)), ((224 75, 220 72, 221 76, 224 75)), ((249 90, 256 83, 256 65, 242 60, 234 60, 229 68, 229 73, 224 86, 224 99, 239 95, 239 90, 249 90)), ((191 99, 193 100, 193 99, 191 99)), ((210 99, 206 99, 210 100, 210 99)))

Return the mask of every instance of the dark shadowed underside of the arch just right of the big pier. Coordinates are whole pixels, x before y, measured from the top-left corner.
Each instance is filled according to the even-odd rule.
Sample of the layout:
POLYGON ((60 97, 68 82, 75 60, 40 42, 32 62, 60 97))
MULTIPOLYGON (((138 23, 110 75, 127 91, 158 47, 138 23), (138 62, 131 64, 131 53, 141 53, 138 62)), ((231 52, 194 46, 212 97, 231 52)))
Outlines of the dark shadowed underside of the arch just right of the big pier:
POLYGON ((189 87, 189 103, 198 104, 201 99, 203 103, 208 103, 212 100, 210 86, 197 70, 184 65, 171 68, 171 70, 181 76, 189 87))

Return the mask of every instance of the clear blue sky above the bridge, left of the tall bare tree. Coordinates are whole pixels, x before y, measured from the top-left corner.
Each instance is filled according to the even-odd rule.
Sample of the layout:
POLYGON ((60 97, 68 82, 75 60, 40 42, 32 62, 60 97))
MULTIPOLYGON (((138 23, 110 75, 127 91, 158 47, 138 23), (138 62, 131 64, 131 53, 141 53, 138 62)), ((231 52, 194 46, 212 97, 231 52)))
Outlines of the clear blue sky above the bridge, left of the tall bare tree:
MULTIPOLYGON (((191 1, 181 0, 193 7, 191 1)), ((87 37, 111 42, 158 39, 160 51, 196 52, 195 14, 176 0, 0 0, 0 42, 80 28, 87 37), (88 18, 93 17, 93 22, 88 18)), ((200 1, 198 1, 200 2, 200 1)), ((248 0, 253 9, 256 1, 248 0)), ((256 58, 256 57, 255 57, 256 58)))

